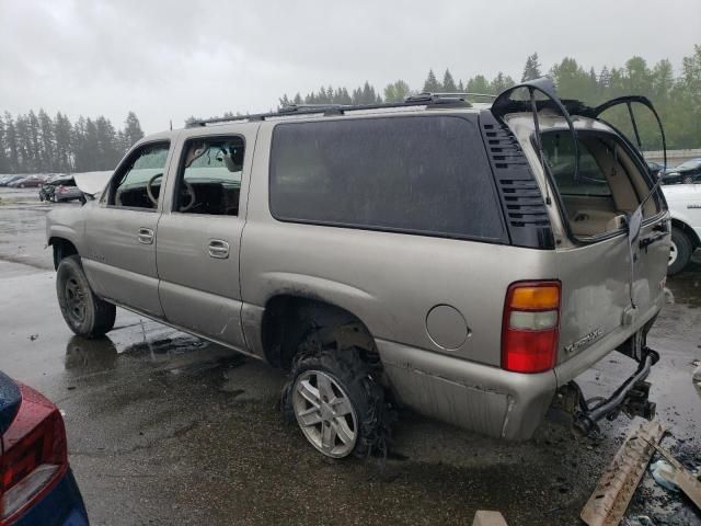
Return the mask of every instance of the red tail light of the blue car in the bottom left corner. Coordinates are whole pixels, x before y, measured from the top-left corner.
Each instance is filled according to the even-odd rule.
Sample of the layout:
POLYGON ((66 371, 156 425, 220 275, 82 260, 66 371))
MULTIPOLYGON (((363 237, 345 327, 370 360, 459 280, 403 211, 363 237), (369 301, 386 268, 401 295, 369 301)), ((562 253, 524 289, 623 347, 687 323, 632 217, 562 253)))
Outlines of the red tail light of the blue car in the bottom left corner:
POLYGON ((68 469, 66 430, 56 405, 20 386, 22 405, 2 441, 0 526, 42 500, 68 469))

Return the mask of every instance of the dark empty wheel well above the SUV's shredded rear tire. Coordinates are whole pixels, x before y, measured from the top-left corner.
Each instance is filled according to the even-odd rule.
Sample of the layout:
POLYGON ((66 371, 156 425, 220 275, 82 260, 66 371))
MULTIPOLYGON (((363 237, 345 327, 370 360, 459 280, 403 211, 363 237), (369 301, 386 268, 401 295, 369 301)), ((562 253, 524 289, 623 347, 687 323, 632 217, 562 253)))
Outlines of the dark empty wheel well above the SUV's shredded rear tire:
POLYGON ((340 348, 356 347, 364 361, 379 366, 375 340, 352 312, 323 300, 294 295, 271 298, 265 306, 262 341, 268 363, 289 369, 299 344, 312 331, 335 340, 340 348))

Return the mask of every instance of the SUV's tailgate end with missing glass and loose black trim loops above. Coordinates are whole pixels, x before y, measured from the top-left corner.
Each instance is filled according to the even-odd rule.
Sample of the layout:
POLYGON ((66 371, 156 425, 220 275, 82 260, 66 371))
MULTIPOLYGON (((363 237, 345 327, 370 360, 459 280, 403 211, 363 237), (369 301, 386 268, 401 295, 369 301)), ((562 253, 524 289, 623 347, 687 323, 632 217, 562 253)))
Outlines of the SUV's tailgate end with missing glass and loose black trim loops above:
POLYGON ((620 98, 593 108, 561 101, 549 79, 509 88, 494 101, 492 113, 507 126, 514 117, 521 124, 532 118, 530 144, 522 144, 522 132, 520 140, 540 161, 545 202, 558 210, 564 230, 560 239, 555 235, 562 282, 559 381, 574 378, 582 373, 578 367, 611 348, 640 364, 612 397, 616 403, 609 400, 611 405, 600 407, 590 422, 610 416, 656 361, 645 334, 663 301, 669 226, 659 182, 642 153, 653 134, 643 133, 640 124, 658 127, 664 149, 662 124, 645 98, 620 98), (639 116, 640 110, 647 114, 639 116), (582 353, 589 353, 587 359, 565 365, 582 353))

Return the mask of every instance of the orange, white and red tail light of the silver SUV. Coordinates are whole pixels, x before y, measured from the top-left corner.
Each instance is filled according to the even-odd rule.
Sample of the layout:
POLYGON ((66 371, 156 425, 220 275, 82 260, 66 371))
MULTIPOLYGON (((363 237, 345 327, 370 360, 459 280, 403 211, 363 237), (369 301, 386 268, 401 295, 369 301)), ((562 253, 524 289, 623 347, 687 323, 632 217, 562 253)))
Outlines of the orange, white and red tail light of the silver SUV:
POLYGON ((502 368, 542 373, 555 366, 560 325, 560 282, 509 285, 502 322, 502 368))

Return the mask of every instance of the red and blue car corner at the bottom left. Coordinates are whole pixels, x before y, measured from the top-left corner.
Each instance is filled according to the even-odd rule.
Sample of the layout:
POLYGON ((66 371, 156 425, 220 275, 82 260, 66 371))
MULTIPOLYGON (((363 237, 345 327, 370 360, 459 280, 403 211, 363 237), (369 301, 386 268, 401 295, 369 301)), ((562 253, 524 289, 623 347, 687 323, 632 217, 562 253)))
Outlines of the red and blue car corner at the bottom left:
POLYGON ((0 524, 88 525, 58 408, 0 371, 0 524))

